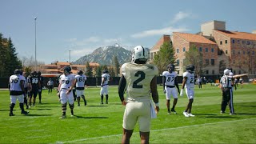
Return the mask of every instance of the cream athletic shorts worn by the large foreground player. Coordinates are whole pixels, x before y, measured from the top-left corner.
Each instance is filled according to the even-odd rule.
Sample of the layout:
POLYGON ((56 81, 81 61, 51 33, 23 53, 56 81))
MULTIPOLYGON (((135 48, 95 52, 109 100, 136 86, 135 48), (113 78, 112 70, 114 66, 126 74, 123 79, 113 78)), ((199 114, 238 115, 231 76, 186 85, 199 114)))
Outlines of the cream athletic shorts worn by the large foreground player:
POLYGON ((126 130, 134 130, 138 121, 139 131, 150 132, 150 101, 128 102, 123 114, 122 127, 126 130))

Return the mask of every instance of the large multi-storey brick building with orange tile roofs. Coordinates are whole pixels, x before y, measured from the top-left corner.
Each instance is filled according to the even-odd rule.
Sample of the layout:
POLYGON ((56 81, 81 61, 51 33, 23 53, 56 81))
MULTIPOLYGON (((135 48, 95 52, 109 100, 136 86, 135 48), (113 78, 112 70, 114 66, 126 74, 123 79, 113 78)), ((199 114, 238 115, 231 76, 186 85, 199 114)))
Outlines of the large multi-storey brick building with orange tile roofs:
POLYGON ((205 75, 222 74, 227 67, 232 68, 234 74, 255 74, 255 30, 253 33, 229 31, 226 30, 226 22, 206 22, 201 25, 198 34, 174 32, 171 36, 163 35, 150 50, 151 60, 160 46, 170 41, 173 43, 179 75, 182 74, 180 71, 184 71, 185 53, 192 46, 202 52, 205 75))

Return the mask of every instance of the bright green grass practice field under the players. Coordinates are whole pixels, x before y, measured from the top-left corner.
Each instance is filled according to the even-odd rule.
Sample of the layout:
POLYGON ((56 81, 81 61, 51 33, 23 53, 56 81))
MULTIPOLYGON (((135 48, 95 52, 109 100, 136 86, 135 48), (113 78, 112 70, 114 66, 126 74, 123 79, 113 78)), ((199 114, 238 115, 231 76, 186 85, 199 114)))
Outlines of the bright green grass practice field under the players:
MULTIPOLYGON (((75 102, 74 117, 70 117, 67 106, 65 119, 58 119, 62 109, 56 90, 53 94, 43 90, 42 104, 36 103, 26 116, 20 114, 17 102, 13 117, 9 116, 9 91, 0 91, 0 143, 121 143, 125 107, 119 100, 118 87, 110 86, 109 104, 103 105, 99 90, 88 87, 87 106, 78 107, 75 102)), ((158 86, 158 94, 160 112, 152 119, 150 143, 256 143, 256 85, 239 86, 234 91, 235 115, 220 114, 222 96, 217 86, 196 87, 194 118, 182 114, 188 102, 186 94, 178 97, 178 114, 170 115, 162 86, 158 86)), ((140 143, 138 126, 130 142, 140 143)))

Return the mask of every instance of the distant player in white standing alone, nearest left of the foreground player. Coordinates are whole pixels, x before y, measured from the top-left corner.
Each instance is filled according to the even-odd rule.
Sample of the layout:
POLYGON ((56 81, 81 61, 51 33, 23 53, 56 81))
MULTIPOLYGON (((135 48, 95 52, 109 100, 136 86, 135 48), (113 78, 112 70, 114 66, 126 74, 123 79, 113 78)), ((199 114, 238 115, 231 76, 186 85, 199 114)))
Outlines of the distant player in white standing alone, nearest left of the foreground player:
POLYGON ((103 94, 106 95, 106 104, 108 104, 108 99, 109 99, 109 81, 110 81, 110 74, 108 72, 108 70, 102 70, 102 88, 100 91, 101 94, 101 104, 103 104, 103 94))

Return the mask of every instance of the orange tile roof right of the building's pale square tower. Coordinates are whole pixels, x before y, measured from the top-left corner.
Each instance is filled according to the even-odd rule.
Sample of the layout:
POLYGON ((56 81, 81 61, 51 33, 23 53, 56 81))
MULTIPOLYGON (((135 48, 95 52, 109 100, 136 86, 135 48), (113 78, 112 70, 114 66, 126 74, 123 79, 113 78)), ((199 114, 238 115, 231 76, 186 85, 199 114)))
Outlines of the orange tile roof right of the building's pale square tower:
POLYGON ((246 32, 237 32, 237 31, 228 31, 228 30, 215 30, 220 34, 226 35, 230 38, 238 39, 248 39, 256 41, 256 34, 246 33, 246 32))

